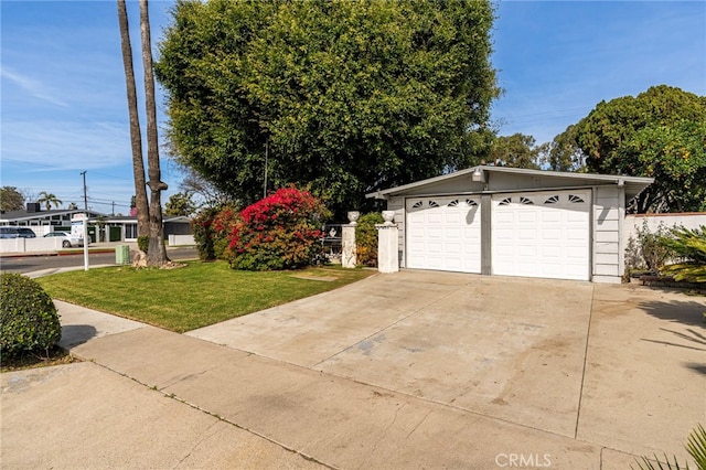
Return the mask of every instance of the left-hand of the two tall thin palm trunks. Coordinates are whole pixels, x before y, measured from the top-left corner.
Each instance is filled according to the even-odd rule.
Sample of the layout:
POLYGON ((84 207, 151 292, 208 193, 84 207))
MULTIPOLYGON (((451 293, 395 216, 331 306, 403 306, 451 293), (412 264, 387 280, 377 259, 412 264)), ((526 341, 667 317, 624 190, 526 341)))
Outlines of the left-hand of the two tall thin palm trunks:
POLYGON ((125 83, 128 93, 128 114, 130 116, 130 142, 132 146, 132 174, 135 177, 135 206, 137 207, 137 235, 149 235, 150 213, 147 204, 147 188, 145 182, 145 161, 142 160, 142 135, 140 118, 137 110, 137 89, 135 86, 135 70, 132 68, 132 46, 130 45, 130 30, 125 0, 118 0, 118 22, 120 23, 120 42, 122 45, 122 64, 125 66, 125 83))

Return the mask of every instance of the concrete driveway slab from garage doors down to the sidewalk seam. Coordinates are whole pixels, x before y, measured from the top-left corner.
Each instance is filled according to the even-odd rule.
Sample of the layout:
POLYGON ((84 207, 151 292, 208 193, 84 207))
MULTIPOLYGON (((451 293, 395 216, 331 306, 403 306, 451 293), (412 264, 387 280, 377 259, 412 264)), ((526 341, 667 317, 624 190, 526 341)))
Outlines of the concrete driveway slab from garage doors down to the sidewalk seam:
POLYGON ((192 331, 217 344, 634 455, 706 423, 704 297, 406 270, 192 331))

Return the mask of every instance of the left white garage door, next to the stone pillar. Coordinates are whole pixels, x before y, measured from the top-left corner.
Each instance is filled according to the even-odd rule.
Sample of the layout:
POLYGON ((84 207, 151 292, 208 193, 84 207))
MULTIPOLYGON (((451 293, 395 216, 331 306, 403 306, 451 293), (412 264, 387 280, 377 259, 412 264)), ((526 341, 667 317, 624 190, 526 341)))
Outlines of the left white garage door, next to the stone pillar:
POLYGON ((480 197, 408 199, 407 267, 480 273, 480 197))

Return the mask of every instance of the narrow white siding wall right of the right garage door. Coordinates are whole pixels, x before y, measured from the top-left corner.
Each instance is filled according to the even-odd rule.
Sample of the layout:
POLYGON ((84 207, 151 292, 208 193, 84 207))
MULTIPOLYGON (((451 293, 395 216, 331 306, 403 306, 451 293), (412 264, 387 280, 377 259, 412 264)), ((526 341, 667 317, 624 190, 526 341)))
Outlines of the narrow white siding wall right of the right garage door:
POLYGON ((593 191, 595 282, 620 282, 624 270, 621 232, 625 213, 622 188, 597 186, 593 191))

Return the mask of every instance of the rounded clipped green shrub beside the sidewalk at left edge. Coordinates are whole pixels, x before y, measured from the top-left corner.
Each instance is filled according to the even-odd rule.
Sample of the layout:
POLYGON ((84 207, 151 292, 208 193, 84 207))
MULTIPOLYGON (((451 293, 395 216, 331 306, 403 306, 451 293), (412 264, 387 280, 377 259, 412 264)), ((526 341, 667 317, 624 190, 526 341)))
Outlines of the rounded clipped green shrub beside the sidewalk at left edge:
POLYGON ((36 281, 29 277, 0 275, 0 353, 13 356, 49 349, 62 338, 56 307, 36 281))

